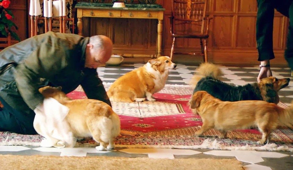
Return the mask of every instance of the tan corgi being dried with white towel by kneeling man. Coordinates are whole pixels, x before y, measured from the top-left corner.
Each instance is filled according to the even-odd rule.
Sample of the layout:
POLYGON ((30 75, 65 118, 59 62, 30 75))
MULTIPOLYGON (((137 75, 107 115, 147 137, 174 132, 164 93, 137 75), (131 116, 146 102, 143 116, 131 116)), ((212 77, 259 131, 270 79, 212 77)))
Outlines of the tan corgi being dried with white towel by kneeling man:
POLYGON ((45 86, 39 92, 69 108, 66 119, 74 137, 92 137, 100 143, 97 150, 114 148, 114 139, 120 133, 120 119, 107 103, 94 99, 72 100, 61 87, 45 86))

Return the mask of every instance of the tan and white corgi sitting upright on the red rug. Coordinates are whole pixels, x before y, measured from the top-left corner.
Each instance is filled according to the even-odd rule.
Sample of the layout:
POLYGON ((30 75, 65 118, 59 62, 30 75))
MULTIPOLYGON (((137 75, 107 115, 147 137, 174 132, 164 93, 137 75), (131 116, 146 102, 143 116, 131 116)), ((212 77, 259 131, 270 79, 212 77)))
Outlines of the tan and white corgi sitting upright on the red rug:
POLYGON ((164 88, 169 70, 175 67, 176 64, 168 56, 149 60, 143 67, 114 81, 107 95, 115 102, 142 102, 145 97, 148 101, 156 101, 152 95, 164 88))

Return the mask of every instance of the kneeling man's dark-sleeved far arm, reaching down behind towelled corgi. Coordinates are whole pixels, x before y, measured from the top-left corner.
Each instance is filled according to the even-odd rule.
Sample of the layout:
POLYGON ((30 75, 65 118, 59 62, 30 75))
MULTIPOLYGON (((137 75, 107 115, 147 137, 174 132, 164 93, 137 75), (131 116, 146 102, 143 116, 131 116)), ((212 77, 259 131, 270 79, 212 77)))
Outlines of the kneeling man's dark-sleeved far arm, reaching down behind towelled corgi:
POLYGON ((81 86, 84 89, 86 96, 89 99, 100 100, 111 106, 111 102, 107 96, 103 82, 98 77, 96 69, 85 68, 84 73, 85 77, 81 83, 81 86))

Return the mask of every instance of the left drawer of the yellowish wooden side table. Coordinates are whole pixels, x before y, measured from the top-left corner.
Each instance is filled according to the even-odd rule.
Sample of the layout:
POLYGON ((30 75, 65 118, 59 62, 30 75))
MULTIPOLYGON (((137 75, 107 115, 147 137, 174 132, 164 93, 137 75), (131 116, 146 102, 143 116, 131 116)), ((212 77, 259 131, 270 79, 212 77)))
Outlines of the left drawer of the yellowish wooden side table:
POLYGON ((119 10, 83 10, 83 16, 85 17, 120 17, 121 11, 119 10))

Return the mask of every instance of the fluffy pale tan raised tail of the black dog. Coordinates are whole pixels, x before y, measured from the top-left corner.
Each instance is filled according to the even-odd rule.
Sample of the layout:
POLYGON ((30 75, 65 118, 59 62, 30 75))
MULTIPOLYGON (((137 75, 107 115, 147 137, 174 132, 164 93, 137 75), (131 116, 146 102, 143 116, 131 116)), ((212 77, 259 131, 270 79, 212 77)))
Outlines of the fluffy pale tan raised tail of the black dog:
POLYGON ((197 69, 196 72, 194 73, 193 78, 191 78, 190 81, 190 86, 192 87, 192 89, 195 88, 195 86, 197 85, 197 82, 204 77, 212 77, 215 79, 220 79, 221 75, 222 75, 222 71, 221 69, 219 69, 219 67, 217 67, 215 64, 212 63, 202 63, 197 69))

